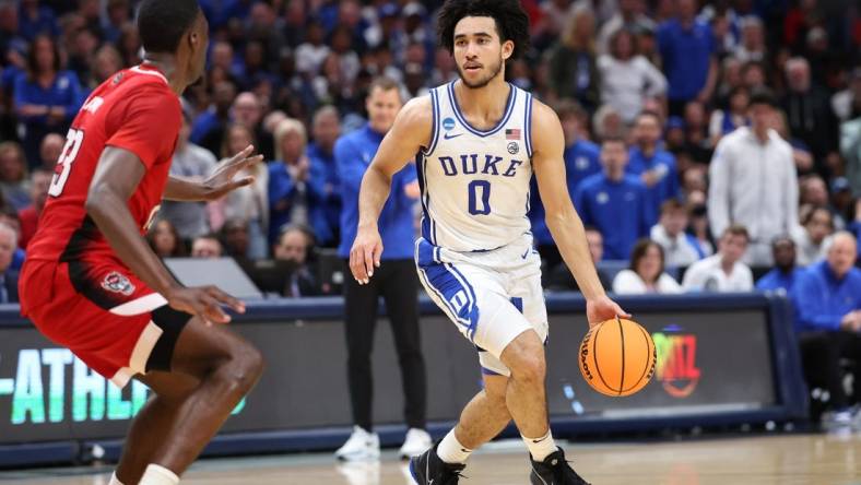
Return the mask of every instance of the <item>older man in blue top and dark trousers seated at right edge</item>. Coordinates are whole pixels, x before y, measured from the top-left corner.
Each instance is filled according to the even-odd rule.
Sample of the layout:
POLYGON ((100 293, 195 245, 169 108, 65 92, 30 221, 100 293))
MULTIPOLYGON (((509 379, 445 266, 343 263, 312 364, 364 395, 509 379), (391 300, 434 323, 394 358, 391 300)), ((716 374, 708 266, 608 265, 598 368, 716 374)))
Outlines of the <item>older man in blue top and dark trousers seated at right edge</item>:
POLYGON ((823 387, 830 393, 831 425, 849 425, 854 417, 842 387, 840 359, 853 359, 856 368, 861 369, 861 270, 854 268, 857 248, 854 236, 838 233, 826 260, 809 267, 792 289, 804 374, 812 387, 823 387))

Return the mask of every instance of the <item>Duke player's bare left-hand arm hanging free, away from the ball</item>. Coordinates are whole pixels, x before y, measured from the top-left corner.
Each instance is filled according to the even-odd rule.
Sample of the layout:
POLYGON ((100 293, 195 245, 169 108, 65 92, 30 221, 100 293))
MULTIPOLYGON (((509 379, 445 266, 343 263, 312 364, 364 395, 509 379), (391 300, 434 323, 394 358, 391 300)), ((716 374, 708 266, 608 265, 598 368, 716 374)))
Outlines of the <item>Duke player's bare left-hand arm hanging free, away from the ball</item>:
POLYGON ((428 96, 406 103, 362 178, 358 192, 358 229, 350 251, 350 269, 361 284, 367 283, 374 275, 374 268, 380 264, 382 239, 377 228, 377 220, 389 198, 391 178, 422 146, 427 146, 433 121, 428 96))

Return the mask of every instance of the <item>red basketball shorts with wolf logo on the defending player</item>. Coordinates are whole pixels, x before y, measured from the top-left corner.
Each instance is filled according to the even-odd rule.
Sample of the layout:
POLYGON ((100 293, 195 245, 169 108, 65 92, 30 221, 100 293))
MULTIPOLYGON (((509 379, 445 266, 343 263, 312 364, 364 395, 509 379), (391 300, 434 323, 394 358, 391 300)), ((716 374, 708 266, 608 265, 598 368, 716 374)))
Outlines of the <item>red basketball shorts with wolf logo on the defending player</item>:
POLYGON ((115 260, 30 260, 19 285, 21 314, 120 388, 135 374, 169 370, 191 318, 115 260))

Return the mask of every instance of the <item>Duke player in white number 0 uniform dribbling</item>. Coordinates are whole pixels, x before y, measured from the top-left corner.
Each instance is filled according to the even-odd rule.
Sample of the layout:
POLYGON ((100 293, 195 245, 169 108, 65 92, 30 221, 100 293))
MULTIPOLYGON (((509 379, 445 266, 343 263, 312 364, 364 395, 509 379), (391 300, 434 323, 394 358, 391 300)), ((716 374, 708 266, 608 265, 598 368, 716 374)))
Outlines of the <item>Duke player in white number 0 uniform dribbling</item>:
MULTIPOLYGON (((460 79, 408 103, 362 182, 351 271, 367 283, 384 248, 377 218, 392 175, 415 158, 424 217, 416 241, 428 295, 479 350, 484 390, 434 448, 414 457, 420 485, 457 484, 472 450, 514 418, 529 449, 532 484, 586 484, 550 433, 544 389, 547 315, 527 211, 534 173, 547 227, 595 324, 628 317, 604 294, 565 181, 556 114, 505 82, 505 61, 526 50, 518 0, 448 0, 441 44, 460 79)), ((576 346, 576 342, 571 342, 576 346)))

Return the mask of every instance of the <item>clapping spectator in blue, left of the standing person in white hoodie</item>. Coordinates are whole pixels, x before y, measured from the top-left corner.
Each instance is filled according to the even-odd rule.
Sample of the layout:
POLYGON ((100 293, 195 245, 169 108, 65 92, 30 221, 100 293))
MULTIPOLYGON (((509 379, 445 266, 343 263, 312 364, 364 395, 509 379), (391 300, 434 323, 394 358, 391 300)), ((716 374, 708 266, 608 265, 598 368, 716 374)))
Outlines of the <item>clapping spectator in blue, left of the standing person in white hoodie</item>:
POLYGON ((658 223, 661 204, 670 199, 679 199, 679 171, 675 156, 661 150, 661 119, 653 111, 644 111, 634 121, 634 142, 628 154, 626 171, 639 176, 646 185, 646 199, 654 220, 649 226, 658 223))

